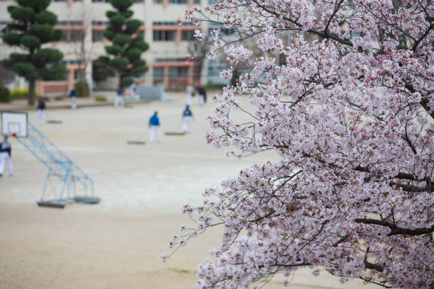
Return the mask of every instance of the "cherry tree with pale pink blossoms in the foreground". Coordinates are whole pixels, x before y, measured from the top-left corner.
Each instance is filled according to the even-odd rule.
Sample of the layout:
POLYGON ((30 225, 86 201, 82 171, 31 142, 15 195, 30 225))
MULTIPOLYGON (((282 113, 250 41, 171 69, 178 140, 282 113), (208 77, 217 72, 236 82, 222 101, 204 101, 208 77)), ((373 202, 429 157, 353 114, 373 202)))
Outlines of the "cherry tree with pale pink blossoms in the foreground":
POLYGON ((222 0, 185 17, 238 33, 228 42, 213 30, 208 57, 223 52, 244 69, 213 97, 208 144, 279 156, 184 206, 196 226, 169 247, 223 226, 196 288, 253 288, 298 268, 434 288, 433 1, 222 0), (253 37, 265 56, 243 45, 253 37))

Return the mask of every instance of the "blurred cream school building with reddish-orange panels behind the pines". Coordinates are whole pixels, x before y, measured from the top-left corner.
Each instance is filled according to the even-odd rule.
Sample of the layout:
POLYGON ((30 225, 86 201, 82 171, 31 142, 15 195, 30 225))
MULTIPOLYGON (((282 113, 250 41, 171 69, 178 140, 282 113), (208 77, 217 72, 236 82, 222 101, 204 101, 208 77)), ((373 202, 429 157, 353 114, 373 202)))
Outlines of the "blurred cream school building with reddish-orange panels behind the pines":
MULTIPOLYGON (((191 6, 204 7, 215 0, 135 0, 131 7, 133 18, 143 21, 139 33, 149 44, 149 50, 142 57, 149 67, 148 72, 138 84, 146 86, 162 85, 167 90, 184 90, 189 82, 202 84, 221 83, 218 74, 225 64, 219 60, 205 61, 202 67, 197 62, 186 63, 188 47, 194 40, 194 30, 206 30, 204 26, 192 23, 176 23, 183 17, 184 11, 191 6)), ((16 5, 15 1, 0 0, 0 29, 11 21, 7 6, 16 5)), ((108 25, 106 11, 112 10, 109 0, 53 0, 48 10, 57 14, 56 28, 65 30, 65 38, 50 43, 64 54, 68 75, 62 81, 39 81, 40 94, 65 94, 79 79, 80 67, 77 62, 77 50, 84 38, 84 50, 91 60, 86 67, 87 82, 93 89, 115 89, 116 77, 101 79, 96 73, 100 55, 106 55, 104 46, 108 44, 103 32, 108 25)), ((9 56, 14 47, 5 45, 0 40, 0 59, 9 56)), ((224 83, 224 82, 223 82, 224 83)), ((23 86, 23 79, 16 77, 14 86, 23 86)))

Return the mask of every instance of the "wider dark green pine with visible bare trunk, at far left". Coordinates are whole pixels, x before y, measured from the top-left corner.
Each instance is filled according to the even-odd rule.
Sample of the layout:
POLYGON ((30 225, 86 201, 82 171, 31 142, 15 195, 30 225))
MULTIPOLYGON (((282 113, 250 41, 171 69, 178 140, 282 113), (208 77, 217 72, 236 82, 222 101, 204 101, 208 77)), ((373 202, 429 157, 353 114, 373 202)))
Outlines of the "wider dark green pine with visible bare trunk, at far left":
POLYGON ((64 32, 54 29, 57 16, 46 10, 50 0, 16 2, 17 6, 8 6, 13 22, 6 27, 3 40, 8 45, 18 46, 21 52, 11 53, 1 64, 28 80, 28 104, 33 106, 37 79, 58 80, 66 75, 66 67, 60 63, 62 52, 42 47, 45 43, 61 40, 64 32))

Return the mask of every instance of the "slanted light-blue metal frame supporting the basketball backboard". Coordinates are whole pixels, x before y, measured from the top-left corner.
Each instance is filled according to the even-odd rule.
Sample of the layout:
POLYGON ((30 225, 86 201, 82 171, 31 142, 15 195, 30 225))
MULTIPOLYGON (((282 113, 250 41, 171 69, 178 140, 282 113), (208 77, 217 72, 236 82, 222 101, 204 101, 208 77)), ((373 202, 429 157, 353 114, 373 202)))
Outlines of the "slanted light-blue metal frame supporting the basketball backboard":
MULTIPOLYGON (((89 193, 89 203, 98 203, 99 198, 94 196, 94 181, 86 174, 82 169, 74 164, 59 148, 57 148, 48 137, 45 137, 42 132, 36 129, 31 123, 28 123, 28 136, 16 137, 16 140, 20 142, 29 152, 31 152, 40 162, 42 162, 48 168, 48 174, 45 179, 43 193, 40 202, 45 202, 45 193, 48 188, 48 182, 52 176, 57 176, 62 181, 61 191, 58 192, 58 198, 53 200, 57 203, 62 203, 67 200, 83 201, 89 197, 78 197, 77 184, 82 185, 84 191, 89 193), (73 197, 69 196, 69 189, 73 188, 73 197), (67 191, 67 198, 64 198, 65 189, 67 191)), ((87 203, 84 201, 84 203, 87 203)))

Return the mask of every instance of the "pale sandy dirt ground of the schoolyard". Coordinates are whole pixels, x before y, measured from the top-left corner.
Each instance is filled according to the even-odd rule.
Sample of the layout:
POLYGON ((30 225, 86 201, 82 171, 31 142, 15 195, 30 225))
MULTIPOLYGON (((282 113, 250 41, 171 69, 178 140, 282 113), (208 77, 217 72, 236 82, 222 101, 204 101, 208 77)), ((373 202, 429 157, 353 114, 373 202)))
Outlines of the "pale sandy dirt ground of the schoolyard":
MULTIPOLYGON (((62 124, 29 121, 94 179, 99 205, 39 208, 47 169, 16 140, 14 176, 0 179, 0 288, 193 288, 198 263, 221 241, 214 229, 177 251, 168 263, 167 241, 180 225, 183 204, 201 203, 208 186, 235 176, 255 162, 273 159, 262 154, 228 159, 224 149, 204 142, 205 117, 213 103, 192 111, 193 133, 165 136, 180 128, 184 99, 135 105, 132 108, 80 108, 48 111, 62 124), (162 142, 127 145, 147 128, 158 111, 162 142)), ((195 99, 197 101, 197 99, 195 99)), ((54 197, 54 196, 53 196, 54 197)), ((283 288, 276 278, 265 288, 283 288)), ((289 288, 376 288, 359 280, 340 284, 307 269, 289 288)))

